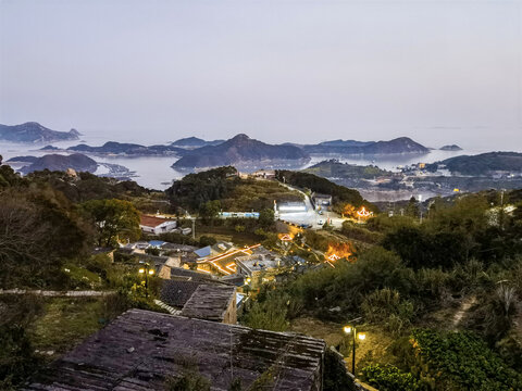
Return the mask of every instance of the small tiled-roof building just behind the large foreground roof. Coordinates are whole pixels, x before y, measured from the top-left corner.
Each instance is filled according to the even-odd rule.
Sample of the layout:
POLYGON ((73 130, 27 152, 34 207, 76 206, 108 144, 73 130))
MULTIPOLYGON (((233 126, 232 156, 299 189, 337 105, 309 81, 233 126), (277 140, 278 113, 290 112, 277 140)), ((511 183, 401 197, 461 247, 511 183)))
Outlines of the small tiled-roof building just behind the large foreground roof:
POLYGON ((183 306, 182 316, 235 325, 236 287, 200 285, 183 306))

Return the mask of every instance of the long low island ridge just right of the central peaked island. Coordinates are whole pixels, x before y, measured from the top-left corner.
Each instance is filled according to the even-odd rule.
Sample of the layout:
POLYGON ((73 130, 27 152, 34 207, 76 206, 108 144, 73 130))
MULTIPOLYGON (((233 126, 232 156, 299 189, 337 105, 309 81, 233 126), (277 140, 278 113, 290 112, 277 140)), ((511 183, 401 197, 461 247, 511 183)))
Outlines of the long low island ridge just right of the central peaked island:
POLYGON ((427 153, 430 149, 413 141, 409 137, 399 137, 389 141, 353 141, 334 140, 319 144, 302 146, 308 153, 336 153, 347 155, 382 155, 427 153))

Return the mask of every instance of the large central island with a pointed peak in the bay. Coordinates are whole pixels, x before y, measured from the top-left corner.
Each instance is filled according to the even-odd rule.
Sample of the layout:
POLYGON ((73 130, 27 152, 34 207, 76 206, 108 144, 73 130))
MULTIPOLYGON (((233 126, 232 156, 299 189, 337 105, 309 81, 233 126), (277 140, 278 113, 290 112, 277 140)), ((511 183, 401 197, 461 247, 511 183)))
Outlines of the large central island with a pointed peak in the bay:
POLYGON ((207 146, 191 150, 175 162, 172 167, 260 166, 284 162, 308 162, 309 160, 308 153, 298 147, 271 146, 241 134, 217 146, 207 146))

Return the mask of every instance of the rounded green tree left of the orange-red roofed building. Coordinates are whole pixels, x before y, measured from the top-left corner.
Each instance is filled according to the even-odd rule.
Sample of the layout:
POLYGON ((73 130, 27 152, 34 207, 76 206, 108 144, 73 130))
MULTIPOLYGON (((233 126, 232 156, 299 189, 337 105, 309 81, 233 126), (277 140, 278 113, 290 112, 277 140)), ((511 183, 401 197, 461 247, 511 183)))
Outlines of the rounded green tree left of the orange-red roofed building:
POLYGON ((82 204, 97 229, 97 244, 114 247, 120 239, 139 238, 139 213, 128 201, 91 200, 82 204))

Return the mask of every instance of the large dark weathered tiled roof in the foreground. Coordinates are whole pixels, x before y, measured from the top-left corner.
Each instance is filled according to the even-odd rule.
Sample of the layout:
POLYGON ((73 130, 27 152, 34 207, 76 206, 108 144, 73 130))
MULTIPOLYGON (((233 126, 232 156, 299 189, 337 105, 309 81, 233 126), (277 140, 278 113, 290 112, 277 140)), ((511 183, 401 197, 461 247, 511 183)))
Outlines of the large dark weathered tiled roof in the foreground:
POLYGON ((324 341, 310 337, 130 310, 25 390, 164 390, 166 378, 190 365, 213 391, 227 390, 233 378, 248 389, 263 374, 270 390, 319 391, 324 351, 324 341))

